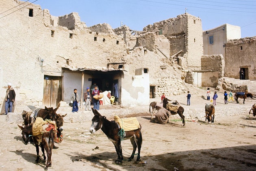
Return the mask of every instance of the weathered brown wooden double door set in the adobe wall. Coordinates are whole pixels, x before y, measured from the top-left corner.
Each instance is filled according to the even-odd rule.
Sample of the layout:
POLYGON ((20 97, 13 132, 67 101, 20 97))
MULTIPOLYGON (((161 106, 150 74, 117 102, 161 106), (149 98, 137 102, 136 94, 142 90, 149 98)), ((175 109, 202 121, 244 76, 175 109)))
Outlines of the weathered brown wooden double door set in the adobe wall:
POLYGON ((43 81, 43 105, 56 107, 62 99, 61 77, 46 75, 43 81))

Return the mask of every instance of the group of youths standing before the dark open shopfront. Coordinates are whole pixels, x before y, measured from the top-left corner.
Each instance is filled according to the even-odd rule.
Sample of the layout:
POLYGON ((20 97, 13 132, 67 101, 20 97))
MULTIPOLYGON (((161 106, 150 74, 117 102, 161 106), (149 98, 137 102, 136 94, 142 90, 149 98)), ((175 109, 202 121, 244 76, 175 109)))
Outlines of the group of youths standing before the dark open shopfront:
MULTIPOLYGON (((100 98, 101 93, 102 92, 98 90, 98 85, 96 83, 93 83, 93 85, 91 85, 91 88, 86 88, 86 92, 84 93, 85 111, 91 110, 91 103, 93 104, 93 109, 100 110, 100 105, 103 105, 103 97, 100 98), (95 96, 97 97, 93 98, 95 96)), ((108 91, 106 96, 108 99, 110 99, 111 91, 108 91)), ((77 94, 77 89, 74 89, 71 100, 73 101, 72 112, 78 112, 79 95, 77 94)))

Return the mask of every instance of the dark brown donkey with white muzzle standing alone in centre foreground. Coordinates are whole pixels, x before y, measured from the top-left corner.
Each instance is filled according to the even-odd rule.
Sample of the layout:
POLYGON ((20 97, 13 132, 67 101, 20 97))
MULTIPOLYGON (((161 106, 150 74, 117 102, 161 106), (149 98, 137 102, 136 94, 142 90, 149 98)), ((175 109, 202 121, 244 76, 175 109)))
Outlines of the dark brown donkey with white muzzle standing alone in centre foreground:
MULTIPOLYGON (((93 111, 94 117, 91 120, 92 124, 90 128, 90 133, 93 134, 101 128, 103 133, 105 133, 108 139, 111 140, 115 145, 115 150, 117 152, 117 160, 115 160, 115 162, 117 164, 119 164, 119 162, 121 163, 124 160, 124 157, 122 154, 122 147, 121 147, 121 138, 118 135, 121 129, 118 127, 117 122, 109 121, 106 119, 105 116, 100 115, 100 113, 97 110, 93 108, 91 109, 93 111)), ((134 158, 137 147, 138 147, 137 161, 139 161, 141 145, 142 145, 141 126, 136 130, 125 131, 124 139, 130 139, 133 147, 132 155, 130 156, 128 161, 131 161, 134 158)))

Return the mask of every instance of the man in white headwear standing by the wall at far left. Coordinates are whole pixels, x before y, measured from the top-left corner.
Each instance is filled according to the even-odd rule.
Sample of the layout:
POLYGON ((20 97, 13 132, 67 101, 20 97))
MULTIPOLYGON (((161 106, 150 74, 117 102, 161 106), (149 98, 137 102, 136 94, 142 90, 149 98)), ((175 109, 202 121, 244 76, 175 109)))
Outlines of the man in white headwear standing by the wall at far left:
POLYGON ((7 86, 8 89, 6 90, 6 95, 4 97, 1 115, 7 115, 7 113, 14 111, 16 94, 13 88, 11 87, 11 83, 8 83, 7 86))

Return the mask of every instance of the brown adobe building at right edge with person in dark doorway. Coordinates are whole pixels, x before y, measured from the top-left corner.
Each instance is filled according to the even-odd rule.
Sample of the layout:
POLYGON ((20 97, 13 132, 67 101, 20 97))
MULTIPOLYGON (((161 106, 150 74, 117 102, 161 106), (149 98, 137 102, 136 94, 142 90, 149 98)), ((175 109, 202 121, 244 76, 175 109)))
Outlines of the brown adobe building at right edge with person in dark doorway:
POLYGON ((226 43, 225 77, 240 79, 240 67, 248 68, 248 78, 256 80, 256 36, 226 43))

